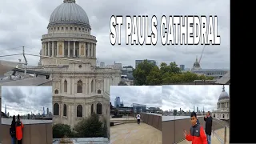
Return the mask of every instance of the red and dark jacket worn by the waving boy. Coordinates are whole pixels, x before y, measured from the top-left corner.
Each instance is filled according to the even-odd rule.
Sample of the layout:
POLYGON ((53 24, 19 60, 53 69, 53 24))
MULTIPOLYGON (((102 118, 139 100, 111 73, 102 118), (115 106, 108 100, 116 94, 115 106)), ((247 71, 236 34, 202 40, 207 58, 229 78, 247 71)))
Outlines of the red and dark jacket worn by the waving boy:
POLYGON ((186 134, 186 140, 192 144, 207 144, 206 134, 199 124, 190 127, 190 134, 186 134))

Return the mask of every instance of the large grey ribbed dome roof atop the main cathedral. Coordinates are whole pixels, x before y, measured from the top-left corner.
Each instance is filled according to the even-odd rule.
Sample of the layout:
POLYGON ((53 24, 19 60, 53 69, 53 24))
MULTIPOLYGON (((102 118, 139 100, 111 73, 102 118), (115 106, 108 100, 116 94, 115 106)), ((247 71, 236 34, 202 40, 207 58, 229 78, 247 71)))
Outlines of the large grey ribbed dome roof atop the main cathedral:
POLYGON ((49 26, 74 24, 90 29, 89 18, 86 11, 75 3, 75 0, 64 0, 50 15, 49 26))

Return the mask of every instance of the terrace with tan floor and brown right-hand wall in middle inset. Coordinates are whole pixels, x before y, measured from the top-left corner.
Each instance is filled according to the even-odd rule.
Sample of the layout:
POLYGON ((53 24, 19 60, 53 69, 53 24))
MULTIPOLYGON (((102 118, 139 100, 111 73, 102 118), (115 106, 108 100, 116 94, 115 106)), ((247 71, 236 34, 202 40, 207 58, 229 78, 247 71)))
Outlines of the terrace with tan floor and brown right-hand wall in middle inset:
POLYGON ((141 114, 141 123, 136 118, 110 118, 110 122, 122 124, 110 127, 110 143, 162 144, 162 114, 141 114))

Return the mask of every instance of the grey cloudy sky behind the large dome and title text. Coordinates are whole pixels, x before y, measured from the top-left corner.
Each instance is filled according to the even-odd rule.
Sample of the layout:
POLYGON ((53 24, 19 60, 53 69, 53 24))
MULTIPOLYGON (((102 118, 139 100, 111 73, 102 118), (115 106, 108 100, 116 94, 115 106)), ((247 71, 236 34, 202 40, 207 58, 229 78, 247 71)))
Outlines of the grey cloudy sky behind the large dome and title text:
MULTIPOLYGON (((50 14, 62 4, 63 0, 1 0, 0 2, 0 50, 2 54, 20 54, 26 46, 26 53, 39 54, 42 48, 42 34, 46 34, 50 14), (16 48, 16 49, 13 49, 16 48)), ((98 62, 112 64, 122 62, 123 66, 135 65, 136 59, 154 59, 158 62, 176 62, 191 68, 196 56, 200 57, 203 46, 162 46, 160 38, 156 46, 126 46, 110 44, 111 15, 156 15, 158 23, 163 14, 169 15, 218 15, 218 34, 220 46, 206 46, 201 65, 204 69, 230 68, 230 1, 202 0, 130 0, 125 3, 118 0, 76 0, 90 18, 92 34, 97 37, 98 62), (125 4, 125 6, 124 6, 125 4)), ((125 25, 123 25, 125 26, 125 25)), ((122 29, 125 35, 125 29, 122 29)), ((158 24, 158 32, 160 31, 158 24)), ((160 34, 158 34, 160 35, 160 34)), ((22 56, 0 59, 18 61, 22 56)), ((36 65, 38 57, 27 56, 30 65, 36 65)))

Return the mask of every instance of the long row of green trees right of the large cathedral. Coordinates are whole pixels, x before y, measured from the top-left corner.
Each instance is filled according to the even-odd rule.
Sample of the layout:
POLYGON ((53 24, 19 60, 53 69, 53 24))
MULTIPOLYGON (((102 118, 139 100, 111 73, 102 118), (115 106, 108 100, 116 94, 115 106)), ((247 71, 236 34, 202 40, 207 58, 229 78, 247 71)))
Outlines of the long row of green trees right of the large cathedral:
POLYGON ((212 80, 213 77, 198 75, 189 71, 182 72, 175 62, 167 65, 162 62, 160 68, 144 60, 133 71, 135 86, 162 86, 181 82, 194 82, 194 80, 212 80))

